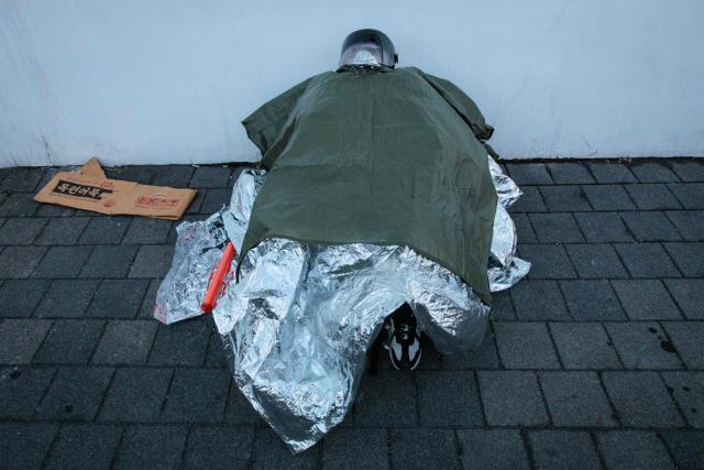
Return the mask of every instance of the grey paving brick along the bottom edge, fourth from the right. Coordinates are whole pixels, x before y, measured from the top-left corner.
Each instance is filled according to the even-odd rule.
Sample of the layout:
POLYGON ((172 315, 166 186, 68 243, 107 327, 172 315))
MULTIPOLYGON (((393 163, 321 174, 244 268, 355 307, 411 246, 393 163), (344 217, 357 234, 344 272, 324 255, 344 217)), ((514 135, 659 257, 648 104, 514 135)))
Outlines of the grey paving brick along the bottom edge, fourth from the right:
POLYGON ((463 468, 528 469, 528 456, 517 429, 458 430, 463 468))

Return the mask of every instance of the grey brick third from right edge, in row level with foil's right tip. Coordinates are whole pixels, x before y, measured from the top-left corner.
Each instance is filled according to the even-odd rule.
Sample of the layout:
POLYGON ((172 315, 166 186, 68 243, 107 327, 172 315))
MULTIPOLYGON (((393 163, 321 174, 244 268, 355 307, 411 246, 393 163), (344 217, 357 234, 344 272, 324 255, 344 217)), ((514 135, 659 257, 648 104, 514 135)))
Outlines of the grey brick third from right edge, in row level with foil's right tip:
POLYGON ((560 288, 575 320, 626 319, 608 281, 560 281, 560 288))

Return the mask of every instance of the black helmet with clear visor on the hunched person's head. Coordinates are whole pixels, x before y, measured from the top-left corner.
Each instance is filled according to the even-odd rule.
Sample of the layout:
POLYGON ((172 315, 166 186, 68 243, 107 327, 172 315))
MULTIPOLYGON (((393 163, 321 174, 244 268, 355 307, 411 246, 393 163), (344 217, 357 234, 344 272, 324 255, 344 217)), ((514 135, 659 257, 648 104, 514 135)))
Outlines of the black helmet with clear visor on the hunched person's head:
POLYGON ((359 30, 342 43, 340 67, 354 65, 362 67, 396 66, 398 54, 394 43, 378 30, 359 30))

